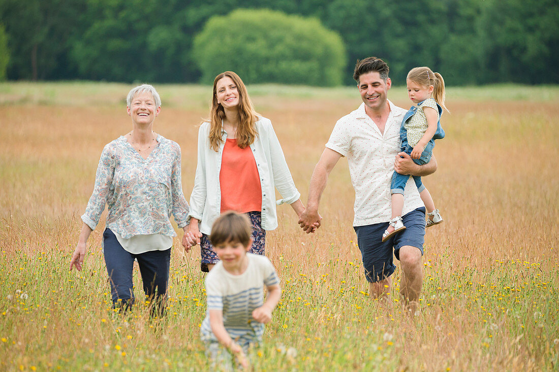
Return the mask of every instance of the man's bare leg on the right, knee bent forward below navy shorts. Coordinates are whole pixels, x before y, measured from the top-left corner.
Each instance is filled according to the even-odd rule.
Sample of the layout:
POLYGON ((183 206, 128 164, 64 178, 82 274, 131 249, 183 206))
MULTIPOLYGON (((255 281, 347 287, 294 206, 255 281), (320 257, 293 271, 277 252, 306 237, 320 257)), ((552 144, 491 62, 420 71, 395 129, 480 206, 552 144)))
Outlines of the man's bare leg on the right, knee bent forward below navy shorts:
POLYGON ((401 247, 400 265, 402 269, 400 294, 404 297, 405 310, 414 315, 419 304, 419 294, 423 285, 421 251, 409 245, 401 247))

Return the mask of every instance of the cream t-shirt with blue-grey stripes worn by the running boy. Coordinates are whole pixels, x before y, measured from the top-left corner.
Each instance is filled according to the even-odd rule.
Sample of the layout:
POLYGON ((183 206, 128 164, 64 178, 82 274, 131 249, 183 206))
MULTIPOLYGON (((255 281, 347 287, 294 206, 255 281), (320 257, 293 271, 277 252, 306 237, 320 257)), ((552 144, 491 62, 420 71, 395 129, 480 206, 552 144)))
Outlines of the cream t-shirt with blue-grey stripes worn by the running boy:
POLYGON ((266 256, 247 253, 248 266, 243 274, 228 273, 221 261, 206 276, 207 311, 201 337, 217 341, 210 326, 210 310, 223 312, 223 324, 229 336, 247 341, 260 341, 264 325, 252 318, 252 312, 264 304, 263 285, 280 284, 276 270, 266 256))

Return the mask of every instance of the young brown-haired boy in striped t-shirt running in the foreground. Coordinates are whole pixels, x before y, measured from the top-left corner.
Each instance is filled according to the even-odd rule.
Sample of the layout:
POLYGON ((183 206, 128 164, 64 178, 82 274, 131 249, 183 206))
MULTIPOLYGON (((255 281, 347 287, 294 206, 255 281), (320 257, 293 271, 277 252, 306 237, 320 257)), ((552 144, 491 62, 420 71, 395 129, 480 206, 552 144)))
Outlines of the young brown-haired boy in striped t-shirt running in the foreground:
POLYGON ((214 363, 227 367, 231 358, 247 368, 251 344, 262 340, 264 323, 281 297, 280 280, 266 256, 248 253, 250 222, 244 214, 226 212, 212 226, 211 244, 220 261, 206 277, 207 315, 201 338, 214 363), (268 297, 264 302, 262 285, 268 297))

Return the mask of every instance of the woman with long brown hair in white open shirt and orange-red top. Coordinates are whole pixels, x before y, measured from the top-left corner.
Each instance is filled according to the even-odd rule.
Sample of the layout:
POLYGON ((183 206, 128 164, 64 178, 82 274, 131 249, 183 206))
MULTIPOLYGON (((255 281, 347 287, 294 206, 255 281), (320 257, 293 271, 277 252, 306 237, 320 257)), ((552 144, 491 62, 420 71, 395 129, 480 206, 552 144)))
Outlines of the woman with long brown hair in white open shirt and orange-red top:
MULTIPOLYGON (((200 244, 201 270, 218 261, 209 235, 222 212, 247 213, 253 227, 250 252, 264 254, 266 230, 277 227, 275 188, 297 216, 304 210, 272 123, 254 111, 243 80, 225 71, 214 80, 210 119, 198 131, 198 165, 190 197, 189 250, 200 244)), ((315 228, 318 224, 315 225, 315 228)))

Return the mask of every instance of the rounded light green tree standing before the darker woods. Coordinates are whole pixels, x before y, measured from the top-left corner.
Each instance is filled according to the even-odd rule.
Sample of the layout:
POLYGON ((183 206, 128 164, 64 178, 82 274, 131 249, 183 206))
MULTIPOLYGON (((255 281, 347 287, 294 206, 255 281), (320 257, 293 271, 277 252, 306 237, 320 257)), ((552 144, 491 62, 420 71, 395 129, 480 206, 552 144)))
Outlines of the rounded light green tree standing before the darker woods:
POLYGON ((248 83, 338 85, 346 62, 342 39, 319 20, 269 10, 210 18, 192 54, 207 83, 233 70, 248 83))

